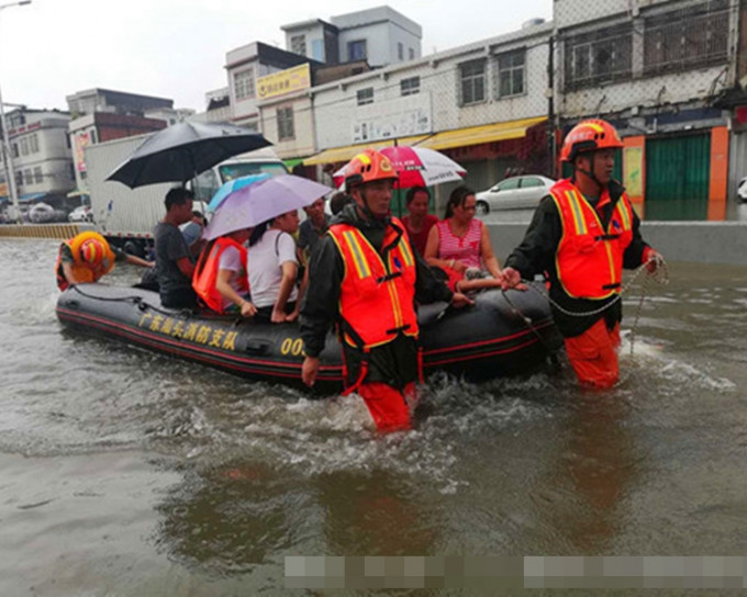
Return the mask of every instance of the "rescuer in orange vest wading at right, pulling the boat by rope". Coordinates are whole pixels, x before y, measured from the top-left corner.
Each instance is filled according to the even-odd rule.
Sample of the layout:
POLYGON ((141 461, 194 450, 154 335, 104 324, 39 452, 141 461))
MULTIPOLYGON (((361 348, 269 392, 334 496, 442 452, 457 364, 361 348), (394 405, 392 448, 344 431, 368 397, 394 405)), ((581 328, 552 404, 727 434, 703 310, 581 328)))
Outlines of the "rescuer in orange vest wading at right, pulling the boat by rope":
POLYGON ((644 243, 625 189, 612 179, 614 153, 622 146, 617 131, 602 120, 583 121, 568 133, 560 159, 573 174, 539 203, 503 269, 503 289, 522 288, 522 278, 546 272, 550 297, 562 309, 589 314, 571 316, 553 305, 579 381, 595 387, 611 387, 618 379, 623 268, 646 263, 654 272, 662 261, 644 243))

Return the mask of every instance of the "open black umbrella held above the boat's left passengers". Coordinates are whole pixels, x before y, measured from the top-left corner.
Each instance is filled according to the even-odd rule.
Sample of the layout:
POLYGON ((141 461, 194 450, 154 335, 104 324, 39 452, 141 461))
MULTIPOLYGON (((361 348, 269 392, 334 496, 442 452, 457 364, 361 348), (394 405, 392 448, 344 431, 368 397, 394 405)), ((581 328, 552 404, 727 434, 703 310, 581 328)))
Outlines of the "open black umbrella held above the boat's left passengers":
POLYGON ((233 156, 271 145, 233 124, 183 122, 150 135, 107 180, 131 189, 158 182, 186 182, 233 156))

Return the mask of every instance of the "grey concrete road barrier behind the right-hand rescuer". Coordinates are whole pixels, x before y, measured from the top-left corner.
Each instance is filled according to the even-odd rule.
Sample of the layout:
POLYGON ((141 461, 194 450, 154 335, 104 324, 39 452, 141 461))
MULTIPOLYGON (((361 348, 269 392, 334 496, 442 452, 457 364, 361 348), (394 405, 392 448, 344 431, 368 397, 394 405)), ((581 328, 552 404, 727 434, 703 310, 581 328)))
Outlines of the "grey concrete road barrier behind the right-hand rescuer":
MULTIPOLYGON (((501 263, 529 225, 528 221, 486 224, 501 263)), ((747 266, 747 222, 644 222, 640 234, 668 261, 747 266)))

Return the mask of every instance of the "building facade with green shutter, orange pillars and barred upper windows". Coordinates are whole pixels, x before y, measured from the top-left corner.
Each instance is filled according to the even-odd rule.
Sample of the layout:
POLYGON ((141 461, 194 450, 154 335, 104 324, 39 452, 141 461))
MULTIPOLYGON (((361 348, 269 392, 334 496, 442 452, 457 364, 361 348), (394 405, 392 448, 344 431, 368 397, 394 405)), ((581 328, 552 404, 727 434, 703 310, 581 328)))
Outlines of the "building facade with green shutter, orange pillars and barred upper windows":
POLYGON ((736 0, 554 3, 559 127, 597 116, 617 126, 618 174, 648 219, 726 216, 732 114, 717 99, 737 85, 740 10, 736 0))

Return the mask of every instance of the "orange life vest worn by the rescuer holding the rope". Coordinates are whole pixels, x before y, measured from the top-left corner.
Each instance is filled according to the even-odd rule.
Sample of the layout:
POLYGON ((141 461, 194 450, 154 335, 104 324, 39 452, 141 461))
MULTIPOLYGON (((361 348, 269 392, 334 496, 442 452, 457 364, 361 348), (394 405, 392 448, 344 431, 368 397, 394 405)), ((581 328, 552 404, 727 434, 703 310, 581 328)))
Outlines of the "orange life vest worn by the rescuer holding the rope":
MULTIPOLYGON (((606 229, 597 210, 569 179, 558 181, 550 195, 558 207, 562 237, 555 254, 558 280, 575 298, 607 298, 620 292, 623 254, 633 240, 633 209, 627 195, 617 201, 606 229)), ((610 201, 606 189, 600 205, 610 201)))

